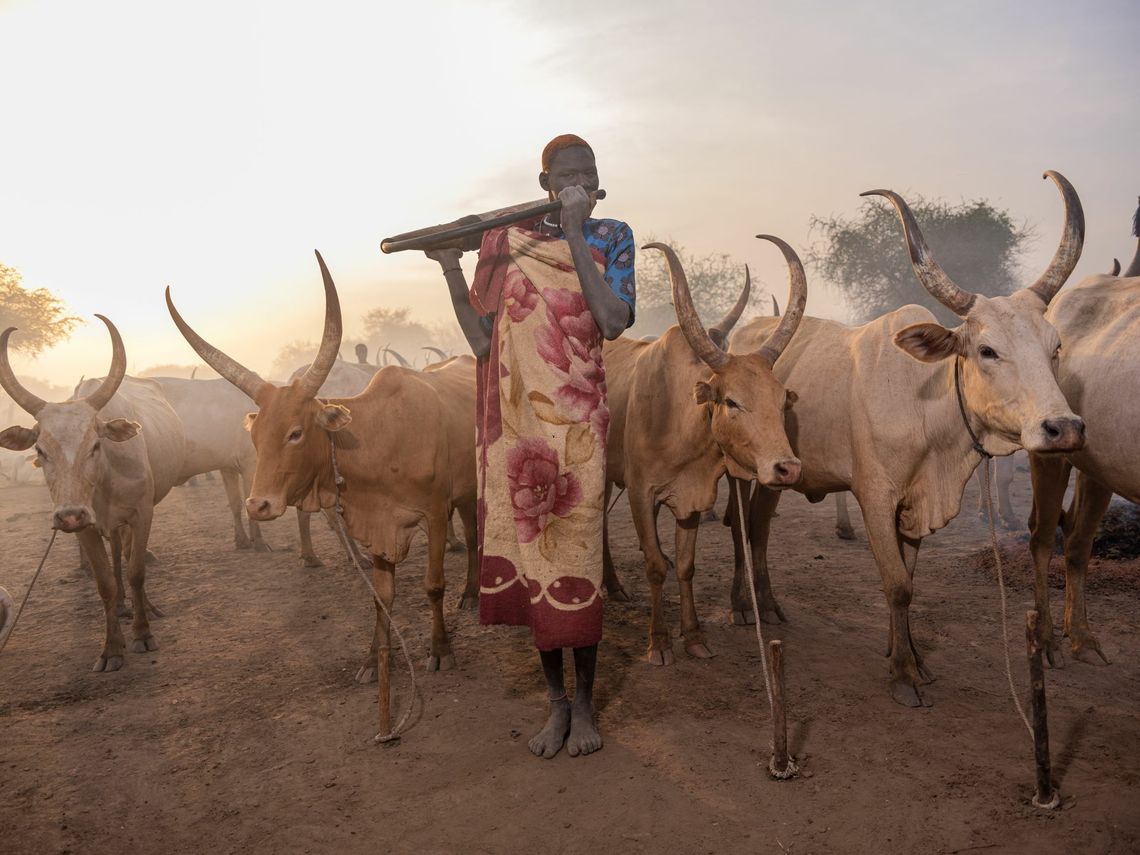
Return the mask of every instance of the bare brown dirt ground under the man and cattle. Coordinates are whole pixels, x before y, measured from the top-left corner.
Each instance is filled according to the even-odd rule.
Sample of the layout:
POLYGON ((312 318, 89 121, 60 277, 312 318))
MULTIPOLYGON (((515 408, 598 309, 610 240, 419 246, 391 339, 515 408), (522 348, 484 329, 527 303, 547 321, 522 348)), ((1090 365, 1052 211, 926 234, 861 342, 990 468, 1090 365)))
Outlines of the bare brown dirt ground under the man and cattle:
MULTIPOLYGON (((605 748, 544 762, 526 744, 544 718, 537 656, 524 632, 480 627, 456 609, 462 554, 448 555, 446 600, 458 668, 421 673, 414 726, 377 747, 374 687, 352 681, 373 610, 332 534, 315 523, 326 569, 300 567, 292 515, 267 528, 275 552, 237 553, 221 483, 179 488, 152 538, 162 563, 148 589, 166 612, 153 622, 158 651, 90 673, 101 606, 63 536, 0 654, 0 852, 1137 852, 1140 571, 1092 587, 1113 665, 1047 673, 1065 800, 1036 811, 975 500, 971 483, 966 512, 919 560, 915 640, 938 676, 927 687, 934 706, 920 710, 887 694, 887 609, 862 521, 846 543, 830 500, 781 503, 772 555, 788 622, 765 632, 785 643, 791 742, 806 774, 775 782, 756 637, 724 621, 732 552, 719 523, 701 529, 697 577, 717 656, 697 661, 676 643, 676 666, 653 668, 641 555, 619 502, 613 552, 635 602, 606 605, 605 748)), ((1018 473, 1023 519, 1028 502, 1018 473)), ((0 584, 17 600, 47 542, 48 510, 42 487, 0 490, 0 584)), ((671 518, 662 520, 671 544, 671 518)), ((1017 538, 1003 538, 1011 557, 1025 548, 1017 538)), ((420 663, 424 563, 421 544, 397 583, 397 622, 420 663)), ((1010 570, 1023 690, 1026 567, 1010 570)), ((676 633, 675 581, 667 593, 676 633)), ((394 684, 402 709, 407 674, 394 684)))

